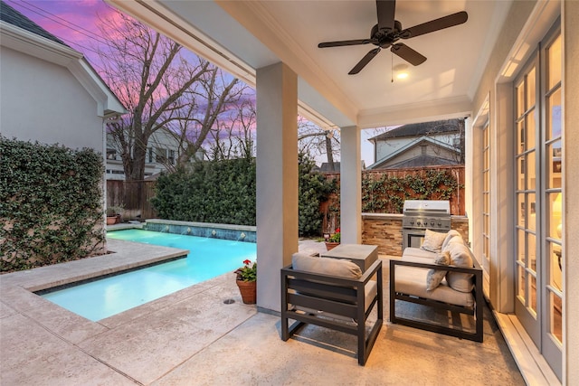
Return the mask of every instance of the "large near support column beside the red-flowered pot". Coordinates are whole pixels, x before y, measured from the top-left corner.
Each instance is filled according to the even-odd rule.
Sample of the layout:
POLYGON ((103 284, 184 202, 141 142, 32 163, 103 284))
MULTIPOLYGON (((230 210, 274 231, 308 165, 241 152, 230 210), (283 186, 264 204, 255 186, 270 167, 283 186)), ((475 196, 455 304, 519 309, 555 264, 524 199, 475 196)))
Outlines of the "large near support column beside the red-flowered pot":
POLYGON ((298 77, 257 71, 257 306, 280 311, 280 268, 298 251, 298 77))

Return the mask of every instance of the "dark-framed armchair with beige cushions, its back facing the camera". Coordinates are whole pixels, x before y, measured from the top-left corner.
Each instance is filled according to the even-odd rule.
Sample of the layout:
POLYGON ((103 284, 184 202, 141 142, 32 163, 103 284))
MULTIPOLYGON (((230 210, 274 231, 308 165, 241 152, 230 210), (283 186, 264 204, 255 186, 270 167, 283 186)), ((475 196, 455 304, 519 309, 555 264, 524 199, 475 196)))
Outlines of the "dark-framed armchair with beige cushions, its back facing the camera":
POLYGON ((281 339, 305 324, 353 334, 358 364, 364 365, 383 324, 382 287, 379 259, 362 272, 347 259, 294 254, 281 269, 281 339), (375 321, 369 321, 374 309, 375 321), (289 319, 295 322, 289 325, 289 319))

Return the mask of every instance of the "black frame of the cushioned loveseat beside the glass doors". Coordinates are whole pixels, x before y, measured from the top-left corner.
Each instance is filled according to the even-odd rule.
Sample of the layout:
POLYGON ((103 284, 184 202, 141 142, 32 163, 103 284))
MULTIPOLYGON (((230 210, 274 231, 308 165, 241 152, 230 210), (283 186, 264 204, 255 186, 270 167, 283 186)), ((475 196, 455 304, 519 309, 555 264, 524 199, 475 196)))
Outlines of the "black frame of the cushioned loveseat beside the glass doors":
MULTIPOLYGON (((426 282, 424 282, 426 286, 426 282)), ((483 339, 483 305, 484 297, 482 294, 482 268, 480 268, 479 263, 474 260, 473 268, 460 268, 454 266, 440 266, 436 264, 428 263, 418 263, 413 261, 404 260, 390 260, 390 322, 399 325, 408 325, 414 328, 420 328, 422 330, 432 331, 433 333, 446 334, 451 336, 456 336, 459 338, 468 339, 470 341, 482 342, 483 339), (395 290, 395 268, 396 266, 405 267, 416 267, 416 268, 435 268, 443 269, 452 272, 463 272, 471 273, 473 275, 474 288, 472 289, 472 295, 475 299, 474 306, 457 306, 449 303, 444 303, 438 300, 427 299, 423 297, 413 296, 411 294, 404 294, 402 292, 396 292, 395 290), (447 327, 444 325, 429 324, 428 322, 423 322, 415 319, 404 318, 402 316, 396 316, 396 300, 401 300, 404 302, 411 302, 424 306, 432 306, 435 308, 444 309, 451 312, 456 312, 460 314, 473 315, 475 318, 475 331, 463 331, 460 328, 447 327)))

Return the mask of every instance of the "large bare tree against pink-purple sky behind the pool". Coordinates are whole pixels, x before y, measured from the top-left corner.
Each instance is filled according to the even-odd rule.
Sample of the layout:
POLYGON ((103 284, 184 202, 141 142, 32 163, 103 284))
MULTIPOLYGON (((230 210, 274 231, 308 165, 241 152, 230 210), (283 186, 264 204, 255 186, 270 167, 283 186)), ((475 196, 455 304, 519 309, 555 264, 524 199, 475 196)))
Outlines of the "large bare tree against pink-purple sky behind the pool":
POLYGON ((147 144, 161 127, 183 144, 179 162, 195 155, 220 114, 239 99, 241 82, 128 15, 101 19, 100 32, 107 42, 98 48, 101 76, 128 108, 109 125, 127 180, 144 178, 147 144))

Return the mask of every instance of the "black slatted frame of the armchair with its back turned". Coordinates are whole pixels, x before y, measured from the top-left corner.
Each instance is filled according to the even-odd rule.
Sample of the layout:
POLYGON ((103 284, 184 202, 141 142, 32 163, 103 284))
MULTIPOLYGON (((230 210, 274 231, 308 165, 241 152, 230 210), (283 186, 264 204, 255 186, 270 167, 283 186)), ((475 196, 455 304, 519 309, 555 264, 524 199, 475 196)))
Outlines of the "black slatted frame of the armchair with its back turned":
POLYGON ((361 278, 341 278, 307 271, 295 270, 291 265, 281 268, 281 339, 287 341, 304 324, 320 325, 357 337, 358 364, 364 365, 374 347, 375 340, 384 323, 382 292, 382 261, 377 260, 361 278), (377 294, 365 309, 365 285, 376 276, 377 294), (288 305, 303 306, 335 315, 345 320, 319 317, 289 309, 288 305), (377 306, 377 320, 366 333, 365 322, 377 306), (294 322, 289 326, 289 319, 294 322))

